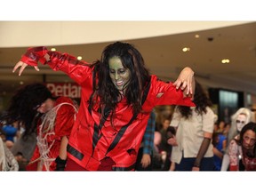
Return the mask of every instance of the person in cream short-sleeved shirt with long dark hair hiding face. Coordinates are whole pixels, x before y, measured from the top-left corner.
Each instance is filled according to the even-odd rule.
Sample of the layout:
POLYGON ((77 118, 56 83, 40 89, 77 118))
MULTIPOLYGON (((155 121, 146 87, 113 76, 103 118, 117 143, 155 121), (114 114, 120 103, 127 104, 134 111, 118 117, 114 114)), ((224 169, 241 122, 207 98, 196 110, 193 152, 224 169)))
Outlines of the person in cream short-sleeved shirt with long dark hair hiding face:
POLYGON ((213 171, 212 133, 215 115, 212 102, 201 84, 196 82, 193 101, 196 107, 175 108, 171 126, 176 127, 172 144, 172 162, 175 171, 213 171))

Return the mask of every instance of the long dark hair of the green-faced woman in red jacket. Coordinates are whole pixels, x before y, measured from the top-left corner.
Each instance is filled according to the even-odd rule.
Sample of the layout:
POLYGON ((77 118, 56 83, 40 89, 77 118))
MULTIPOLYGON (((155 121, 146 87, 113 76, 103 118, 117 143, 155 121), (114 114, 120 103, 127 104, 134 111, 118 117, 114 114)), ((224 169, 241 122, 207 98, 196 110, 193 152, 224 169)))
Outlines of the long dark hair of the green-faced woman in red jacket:
MULTIPOLYGON (((109 76, 108 61, 117 57, 122 61, 124 68, 131 71, 131 79, 127 84, 125 97, 128 105, 132 106, 133 113, 138 114, 141 110, 142 92, 150 80, 148 69, 145 68, 144 60, 140 52, 132 44, 116 42, 109 44, 102 52, 101 59, 96 63, 96 72, 99 77, 99 84, 94 88, 100 97, 100 108, 108 108, 114 114, 118 98, 121 96, 115 84, 109 76)), ((94 80, 94 87, 95 87, 94 80)), ((92 100, 91 100, 92 104, 92 100)))

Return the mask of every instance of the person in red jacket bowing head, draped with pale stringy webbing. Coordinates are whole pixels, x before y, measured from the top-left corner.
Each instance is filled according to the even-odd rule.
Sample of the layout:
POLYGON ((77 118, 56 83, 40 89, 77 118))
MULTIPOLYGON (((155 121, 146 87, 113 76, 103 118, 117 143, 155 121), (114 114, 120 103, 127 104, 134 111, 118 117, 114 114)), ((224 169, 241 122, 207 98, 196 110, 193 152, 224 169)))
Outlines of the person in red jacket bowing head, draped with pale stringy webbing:
POLYGON ((63 171, 68 137, 76 119, 76 107, 67 97, 53 97, 44 84, 21 87, 11 100, 8 122, 25 125, 23 138, 37 132, 36 148, 27 171, 63 171))

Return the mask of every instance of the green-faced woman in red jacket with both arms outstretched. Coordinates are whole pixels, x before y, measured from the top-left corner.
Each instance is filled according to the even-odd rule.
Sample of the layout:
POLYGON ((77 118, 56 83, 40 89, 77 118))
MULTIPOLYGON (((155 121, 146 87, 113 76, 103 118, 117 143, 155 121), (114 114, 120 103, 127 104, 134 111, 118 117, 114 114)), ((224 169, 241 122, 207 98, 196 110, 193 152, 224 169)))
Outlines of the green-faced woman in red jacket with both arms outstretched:
MULTIPOLYGON (((67 171, 134 171, 149 115, 156 105, 195 106, 194 71, 183 68, 172 83, 149 75, 140 52, 109 44, 93 63, 46 47, 29 48, 14 66, 19 76, 37 62, 61 70, 81 86, 81 102, 68 140, 67 171)), ((65 159, 62 159, 65 160, 65 159)))

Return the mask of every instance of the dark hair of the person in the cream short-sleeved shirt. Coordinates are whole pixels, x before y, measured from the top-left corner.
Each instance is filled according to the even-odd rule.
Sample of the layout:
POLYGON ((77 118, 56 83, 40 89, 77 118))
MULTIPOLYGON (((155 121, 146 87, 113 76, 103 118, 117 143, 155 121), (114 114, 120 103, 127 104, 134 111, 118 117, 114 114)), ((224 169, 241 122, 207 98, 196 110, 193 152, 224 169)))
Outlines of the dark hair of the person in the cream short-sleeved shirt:
MULTIPOLYGON (((196 113, 198 115, 203 115, 203 113, 206 113, 206 107, 212 106, 212 101, 209 99, 206 92, 204 92, 203 87, 198 82, 196 82, 193 102, 196 104, 196 113)), ((192 110, 190 107, 178 106, 178 108, 182 116, 188 118, 192 115, 192 110)))

